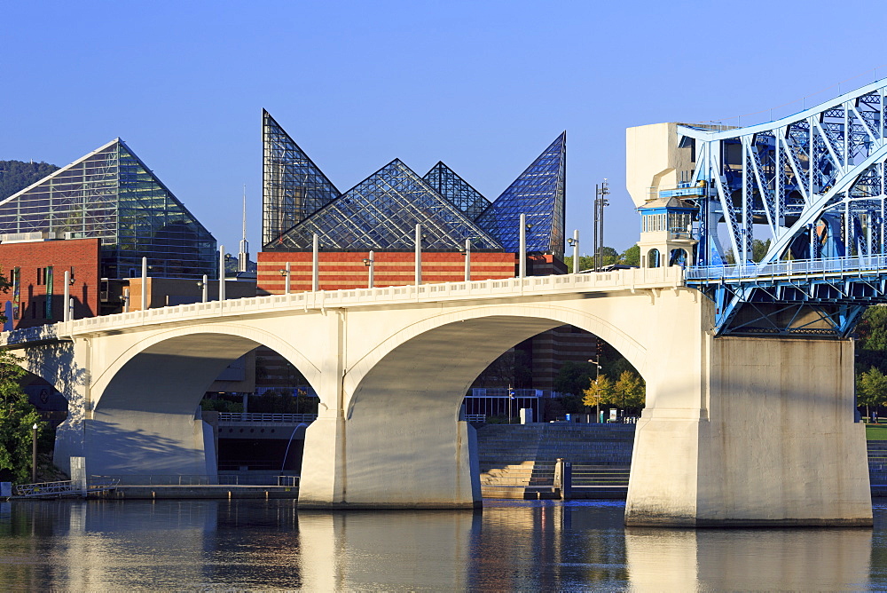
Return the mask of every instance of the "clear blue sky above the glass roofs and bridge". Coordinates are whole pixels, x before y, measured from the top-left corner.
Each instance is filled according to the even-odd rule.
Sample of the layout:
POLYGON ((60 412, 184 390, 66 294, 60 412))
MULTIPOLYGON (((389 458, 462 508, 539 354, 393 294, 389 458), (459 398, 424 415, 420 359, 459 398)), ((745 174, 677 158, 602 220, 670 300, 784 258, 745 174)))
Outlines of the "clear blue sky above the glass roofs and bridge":
POLYGON ((625 128, 735 124, 726 118, 870 82, 887 64, 887 11, 835 8, 8 2, 0 159, 61 166, 120 136, 229 251, 246 184, 255 254, 263 107, 341 190, 394 158, 420 174, 443 160, 493 199, 567 130, 567 232, 579 228, 588 249, 594 184, 609 178, 606 242, 623 250, 638 235, 625 128))

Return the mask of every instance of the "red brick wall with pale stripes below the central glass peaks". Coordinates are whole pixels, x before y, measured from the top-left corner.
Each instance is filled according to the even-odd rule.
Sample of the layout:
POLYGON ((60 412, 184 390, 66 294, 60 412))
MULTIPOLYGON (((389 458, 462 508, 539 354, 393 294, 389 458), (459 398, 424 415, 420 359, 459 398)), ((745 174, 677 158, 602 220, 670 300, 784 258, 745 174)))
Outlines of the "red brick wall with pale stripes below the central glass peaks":
MULTIPOLYGON (((290 290, 302 292, 311 289, 310 251, 263 251, 258 255, 258 282, 260 294, 282 294, 285 279, 280 270, 290 262, 290 290)), ((366 251, 321 251, 318 256, 318 276, 321 290, 365 289, 367 269, 366 251)), ((414 254, 387 251, 373 254, 374 284, 377 287, 403 286, 415 281, 414 254)), ((514 277, 513 253, 477 252, 471 254, 471 279, 514 277)), ((456 282, 465 280, 465 256, 458 251, 428 252, 422 254, 422 282, 456 282)))

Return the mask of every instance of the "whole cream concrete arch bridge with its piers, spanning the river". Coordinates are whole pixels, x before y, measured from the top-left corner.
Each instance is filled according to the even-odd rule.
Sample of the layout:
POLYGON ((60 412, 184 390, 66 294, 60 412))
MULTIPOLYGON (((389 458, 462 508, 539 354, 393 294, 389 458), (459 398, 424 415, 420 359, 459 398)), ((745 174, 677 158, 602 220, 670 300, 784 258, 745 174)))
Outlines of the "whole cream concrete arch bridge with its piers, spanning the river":
POLYGON ((69 400, 62 467, 83 455, 90 474, 215 471, 195 409, 263 344, 320 398, 300 506, 464 508, 481 502, 459 422, 468 386, 514 344, 571 324, 647 381, 628 523, 870 525, 852 342, 716 338, 714 315, 671 267, 186 304, 3 337, 69 400))

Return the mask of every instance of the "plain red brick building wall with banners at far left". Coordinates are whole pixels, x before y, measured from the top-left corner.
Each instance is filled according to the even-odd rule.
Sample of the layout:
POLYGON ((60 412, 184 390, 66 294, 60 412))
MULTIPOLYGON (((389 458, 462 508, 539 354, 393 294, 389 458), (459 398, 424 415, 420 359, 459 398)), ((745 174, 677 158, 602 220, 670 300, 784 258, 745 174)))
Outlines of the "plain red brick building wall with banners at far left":
POLYGON ((20 271, 18 319, 13 319, 13 289, 0 293, 2 312, 9 317, 6 327, 12 323, 14 328, 30 328, 62 320, 66 270, 74 271, 70 294, 75 302, 75 319, 98 315, 99 262, 98 239, 0 244, 0 270, 4 278, 12 280, 16 267, 20 271), (51 320, 44 315, 48 287, 42 270, 48 266, 52 266, 51 320), (38 269, 41 269, 39 279, 38 269))

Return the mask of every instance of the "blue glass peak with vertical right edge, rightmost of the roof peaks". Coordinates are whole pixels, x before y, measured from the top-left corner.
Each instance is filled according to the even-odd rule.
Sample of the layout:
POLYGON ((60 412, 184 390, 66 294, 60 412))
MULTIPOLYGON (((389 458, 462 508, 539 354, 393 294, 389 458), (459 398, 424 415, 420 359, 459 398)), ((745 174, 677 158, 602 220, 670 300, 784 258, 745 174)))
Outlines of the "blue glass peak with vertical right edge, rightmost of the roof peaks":
POLYGON ((527 215, 527 251, 563 257, 567 132, 508 186, 477 219, 478 225, 502 243, 506 251, 520 249, 521 214, 527 215))

